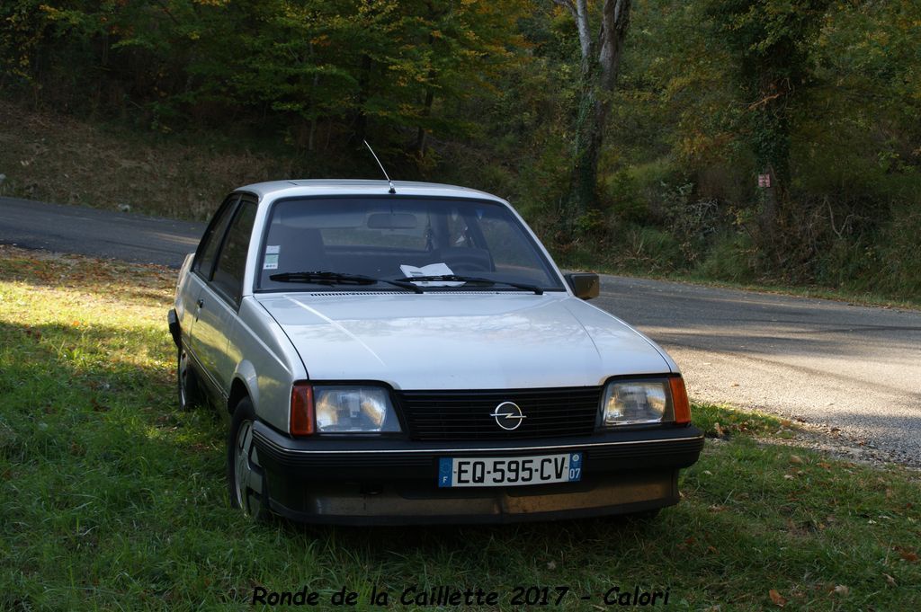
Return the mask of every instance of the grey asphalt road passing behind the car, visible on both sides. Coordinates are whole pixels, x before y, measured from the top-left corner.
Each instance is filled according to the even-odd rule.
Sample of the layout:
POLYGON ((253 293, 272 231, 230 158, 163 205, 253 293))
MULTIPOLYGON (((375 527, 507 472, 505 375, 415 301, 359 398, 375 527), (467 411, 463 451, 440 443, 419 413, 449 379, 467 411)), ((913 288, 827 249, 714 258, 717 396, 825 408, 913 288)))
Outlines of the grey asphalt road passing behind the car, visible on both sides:
MULTIPOLYGON (((0 243, 178 267, 204 225, 0 198, 0 243)), ((919 272, 921 273, 921 272, 919 272)), ((921 465, 921 312, 602 276, 698 400, 772 412, 921 465)))

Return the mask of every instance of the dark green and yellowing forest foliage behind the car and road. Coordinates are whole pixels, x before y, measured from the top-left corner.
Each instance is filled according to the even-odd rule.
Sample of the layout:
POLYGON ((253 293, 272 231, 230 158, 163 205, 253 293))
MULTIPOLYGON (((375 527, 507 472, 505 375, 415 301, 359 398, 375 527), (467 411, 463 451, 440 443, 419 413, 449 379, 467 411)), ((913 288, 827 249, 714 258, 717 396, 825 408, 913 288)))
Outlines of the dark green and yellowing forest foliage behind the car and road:
POLYGON ((367 138, 391 175, 506 197, 569 265, 917 299, 919 40, 917 0, 634 0, 577 216, 554 0, 6 0, 0 95, 305 178, 376 177, 367 138))

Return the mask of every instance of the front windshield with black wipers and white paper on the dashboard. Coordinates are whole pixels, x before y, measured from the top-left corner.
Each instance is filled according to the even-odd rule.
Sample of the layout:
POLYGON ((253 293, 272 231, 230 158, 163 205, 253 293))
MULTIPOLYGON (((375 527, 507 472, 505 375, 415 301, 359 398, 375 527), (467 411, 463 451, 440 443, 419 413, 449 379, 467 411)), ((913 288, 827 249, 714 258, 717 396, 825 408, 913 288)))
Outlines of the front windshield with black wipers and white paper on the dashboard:
POLYGON ((416 276, 430 279, 414 282, 426 291, 521 290, 506 283, 564 291, 524 226, 498 202, 394 196, 276 202, 258 265, 258 291, 393 290, 385 281, 416 276))

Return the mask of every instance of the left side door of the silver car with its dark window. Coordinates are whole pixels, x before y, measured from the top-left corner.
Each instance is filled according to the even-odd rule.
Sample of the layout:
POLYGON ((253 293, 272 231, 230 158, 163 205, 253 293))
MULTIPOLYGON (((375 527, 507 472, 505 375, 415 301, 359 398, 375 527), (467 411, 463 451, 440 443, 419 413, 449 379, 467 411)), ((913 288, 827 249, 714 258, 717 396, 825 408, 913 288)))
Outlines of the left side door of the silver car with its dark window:
POLYGON ((203 282, 192 326, 192 352, 210 377, 216 391, 227 396, 235 364, 227 354, 229 332, 235 326, 243 292, 243 271, 250 246, 256 204, 243 199, 232 211, 210 273, 203 282))

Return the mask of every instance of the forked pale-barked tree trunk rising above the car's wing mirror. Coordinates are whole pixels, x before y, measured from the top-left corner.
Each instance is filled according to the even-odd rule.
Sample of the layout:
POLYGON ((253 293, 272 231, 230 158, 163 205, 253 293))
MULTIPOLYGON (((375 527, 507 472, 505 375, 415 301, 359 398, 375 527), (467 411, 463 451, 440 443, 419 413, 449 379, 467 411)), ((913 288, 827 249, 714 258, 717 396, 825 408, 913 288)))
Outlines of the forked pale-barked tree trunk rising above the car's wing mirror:
POLYGON ((554 0, 554 3, 565 7, 576 21, 582 57, 568 201, 570 221, 574 221, 596 202, 598 157, 630 25, 631 0, 604 0, 597 39, 591 36, 588 0, 554 0))

